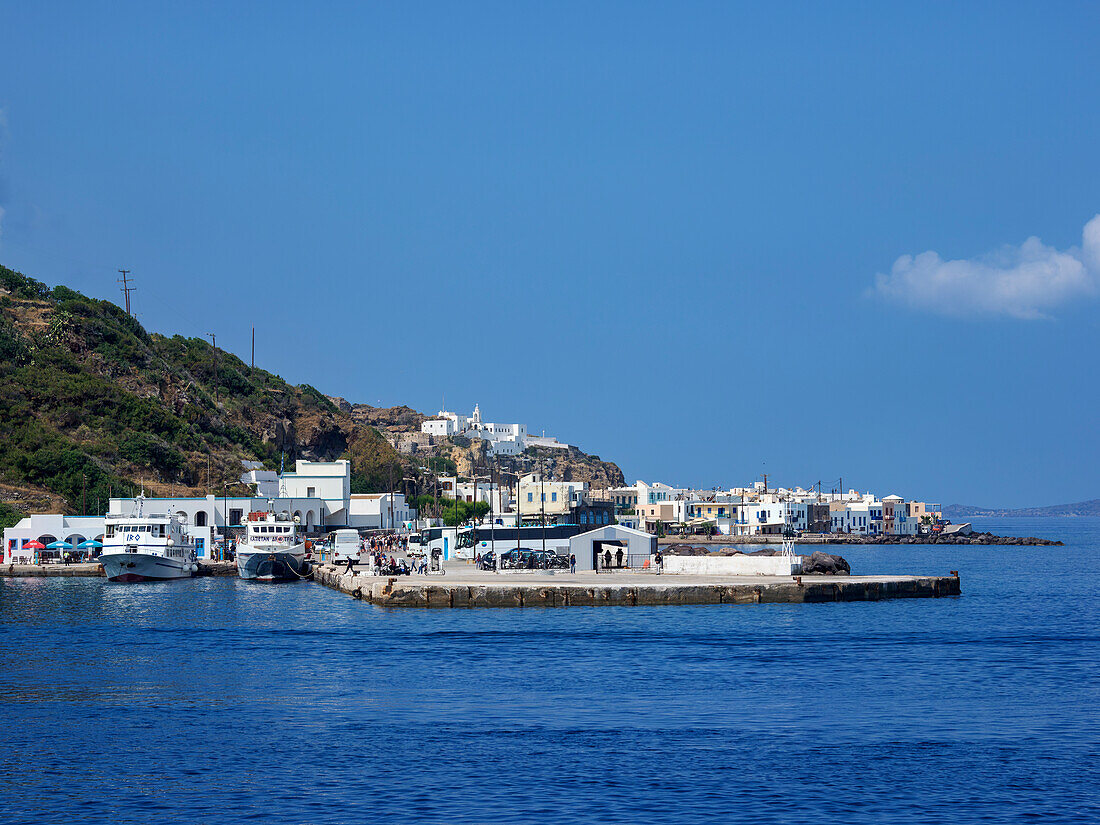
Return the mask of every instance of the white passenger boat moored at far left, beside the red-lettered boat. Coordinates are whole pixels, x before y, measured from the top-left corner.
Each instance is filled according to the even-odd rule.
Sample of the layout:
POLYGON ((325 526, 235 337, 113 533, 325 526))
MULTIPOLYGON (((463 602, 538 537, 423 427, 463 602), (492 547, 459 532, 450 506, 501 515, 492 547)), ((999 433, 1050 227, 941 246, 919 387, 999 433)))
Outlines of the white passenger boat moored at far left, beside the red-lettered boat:
POLYGON ((105 519, 99 563, 112 582, 187 579, 198 570, 195 542, 183 521, 167 513, 146 514, 145 496, 129 516, 105 519))

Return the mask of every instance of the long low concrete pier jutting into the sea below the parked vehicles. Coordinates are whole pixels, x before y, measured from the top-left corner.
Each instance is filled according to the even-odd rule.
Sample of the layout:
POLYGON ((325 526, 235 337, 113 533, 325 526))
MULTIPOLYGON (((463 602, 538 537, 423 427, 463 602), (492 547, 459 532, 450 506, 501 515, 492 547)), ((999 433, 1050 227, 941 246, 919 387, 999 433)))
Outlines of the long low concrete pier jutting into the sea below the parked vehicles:
POLYGON ((939 598, 959 579, 922 575, 721 576, 652 573, 448 571, 446 576, 371 576, 320 565, 314 581, 383 607, 590 607, 594 605, 801 604, 939 598))

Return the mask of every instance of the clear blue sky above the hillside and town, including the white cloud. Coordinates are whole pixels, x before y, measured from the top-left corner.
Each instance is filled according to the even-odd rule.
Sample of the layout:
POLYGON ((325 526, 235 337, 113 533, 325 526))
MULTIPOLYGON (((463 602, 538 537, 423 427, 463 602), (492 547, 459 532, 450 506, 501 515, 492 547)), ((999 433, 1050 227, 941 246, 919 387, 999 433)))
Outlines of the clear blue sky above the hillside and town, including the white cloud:
POLYGON ((290 381, 631 480, 1096 497, 1098 38, 1070 2, 2 2, 0 261, 130 268, 150 329, 256 321, 290 381))

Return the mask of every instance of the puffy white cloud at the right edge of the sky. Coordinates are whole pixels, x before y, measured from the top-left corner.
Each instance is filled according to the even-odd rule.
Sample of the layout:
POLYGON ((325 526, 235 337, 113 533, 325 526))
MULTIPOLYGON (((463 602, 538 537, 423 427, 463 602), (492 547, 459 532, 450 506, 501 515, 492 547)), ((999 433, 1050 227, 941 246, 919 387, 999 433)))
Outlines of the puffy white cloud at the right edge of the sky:
POLYGON ((1075 298, 1100 293, 1100 215, 1080 249, 1059 252, 1037 238, 981 257, 944 261, 935 252, 902 255, 876 275, 875 295, 953 316, 1046 318, 1075 298))

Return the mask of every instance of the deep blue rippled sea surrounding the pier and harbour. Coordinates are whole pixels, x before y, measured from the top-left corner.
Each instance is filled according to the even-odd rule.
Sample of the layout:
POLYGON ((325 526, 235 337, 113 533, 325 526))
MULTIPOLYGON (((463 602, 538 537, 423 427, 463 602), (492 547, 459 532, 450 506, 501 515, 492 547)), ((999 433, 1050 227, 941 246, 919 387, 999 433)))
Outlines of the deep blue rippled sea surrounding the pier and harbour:
POLYGON ((0 580, 0 821, 1100 821, 1100 520, 846 549, 960 598, 383 610, 0 580))

